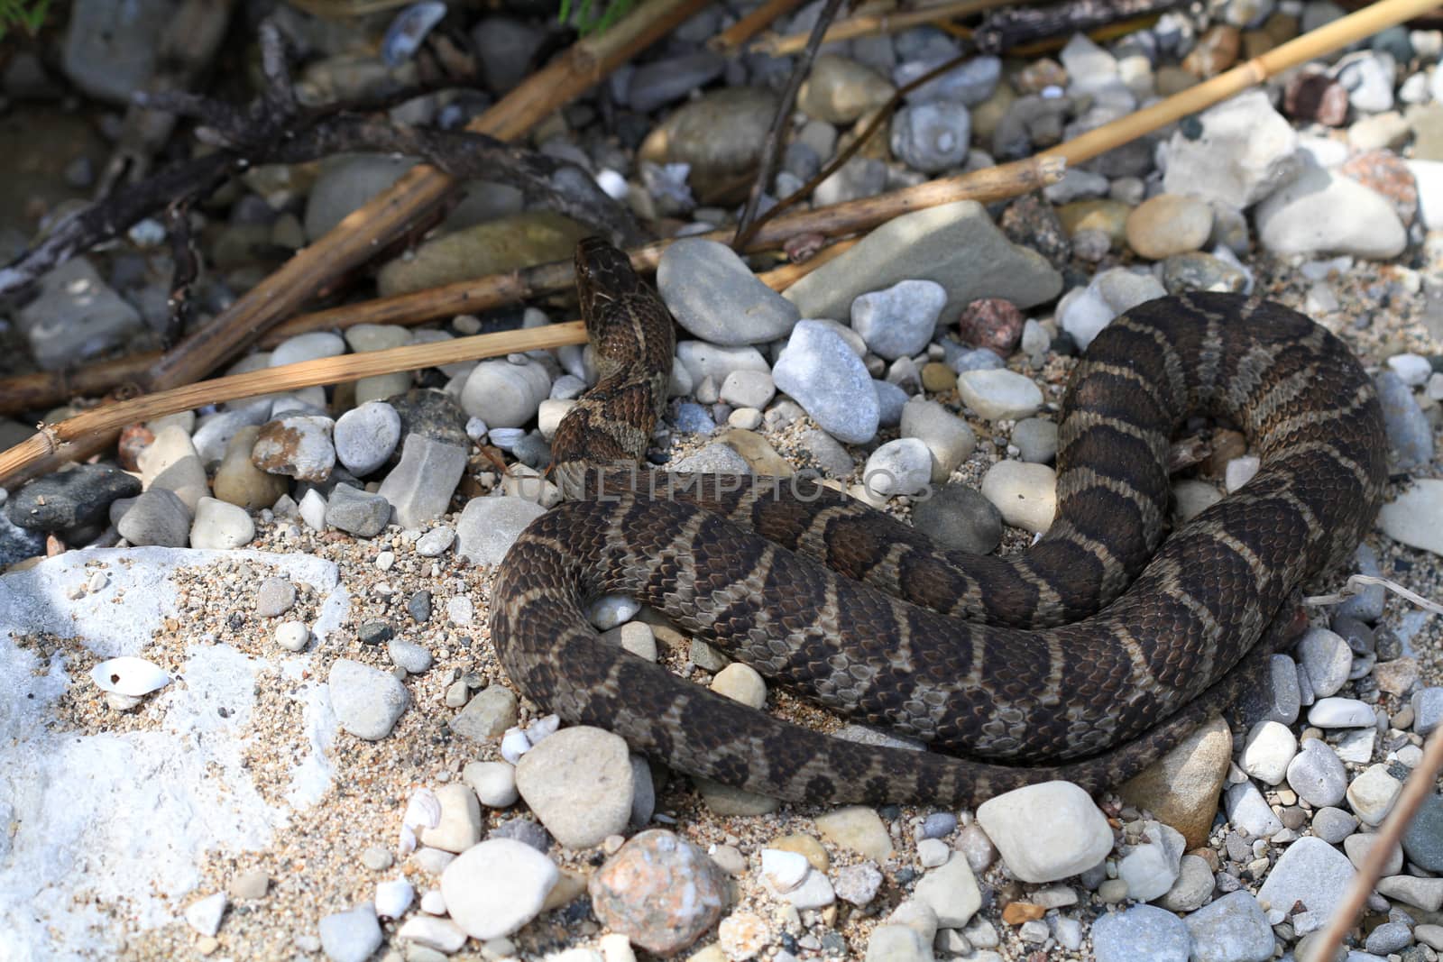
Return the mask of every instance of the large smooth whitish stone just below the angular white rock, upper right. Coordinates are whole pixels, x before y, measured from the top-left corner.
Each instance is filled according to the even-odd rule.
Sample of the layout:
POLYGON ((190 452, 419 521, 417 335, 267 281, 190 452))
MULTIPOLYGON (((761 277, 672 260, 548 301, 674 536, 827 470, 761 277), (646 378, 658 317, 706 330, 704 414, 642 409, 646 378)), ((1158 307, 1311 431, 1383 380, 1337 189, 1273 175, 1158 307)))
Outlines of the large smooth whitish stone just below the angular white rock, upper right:
POLYGON ((1258 241, 1274 254, 1397 257, 1407 231, 1392 205, 1356 180, 1306 167, 1257 206, 1258 241))

